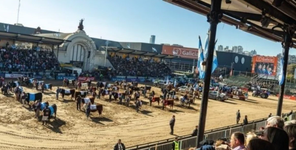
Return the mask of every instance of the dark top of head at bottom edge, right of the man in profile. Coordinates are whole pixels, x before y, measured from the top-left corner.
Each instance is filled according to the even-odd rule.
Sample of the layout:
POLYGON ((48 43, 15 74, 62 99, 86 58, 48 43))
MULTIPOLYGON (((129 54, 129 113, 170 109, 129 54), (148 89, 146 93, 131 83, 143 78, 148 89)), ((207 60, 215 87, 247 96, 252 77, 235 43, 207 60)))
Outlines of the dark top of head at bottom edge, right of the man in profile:
POLYGON ((252 139, 247 145, 246 150, 275 150, 272 144, 268 141, 255 138, 252 139))

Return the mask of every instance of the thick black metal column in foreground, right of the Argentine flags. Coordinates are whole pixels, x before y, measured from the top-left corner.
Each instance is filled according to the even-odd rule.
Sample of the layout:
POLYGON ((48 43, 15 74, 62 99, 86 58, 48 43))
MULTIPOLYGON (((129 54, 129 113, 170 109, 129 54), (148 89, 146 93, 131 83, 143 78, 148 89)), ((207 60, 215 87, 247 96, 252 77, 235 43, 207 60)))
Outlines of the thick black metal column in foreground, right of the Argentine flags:
POLYGON ((213 55, 214 55, 214 47, 215 47, 215 39, 216 39, 216 30, 217 25, 220 22, 219 19, 222 18, 221 12, 221 2, 222 0, 211 0, 211 12, 207 15, 207 21, 210 23, 210 33, 209 33, 209 47, 208 47, 208 58, 206 60, 206 70, 205 70, 205 78, 202 90, 202 100, 200 105, 200 114, 199 114, 199 126, 197 133, 197 143, 203 140, 205 126, 206 126, 206 115, 208 108, 208 97, 209 97, 209 88, 211 82, 211 72, 212 72, 212 63, 213 63, 213 55))

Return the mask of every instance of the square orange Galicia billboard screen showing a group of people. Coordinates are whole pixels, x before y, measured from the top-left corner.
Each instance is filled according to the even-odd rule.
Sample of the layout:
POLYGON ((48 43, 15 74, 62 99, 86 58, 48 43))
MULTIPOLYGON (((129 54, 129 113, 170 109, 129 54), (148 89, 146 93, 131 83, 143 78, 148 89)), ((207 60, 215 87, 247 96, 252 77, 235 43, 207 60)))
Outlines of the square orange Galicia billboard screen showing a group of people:
POLYGON ((277 66, 278 57, 253 56, 252 58, 252 73, 275 76, 277 66))

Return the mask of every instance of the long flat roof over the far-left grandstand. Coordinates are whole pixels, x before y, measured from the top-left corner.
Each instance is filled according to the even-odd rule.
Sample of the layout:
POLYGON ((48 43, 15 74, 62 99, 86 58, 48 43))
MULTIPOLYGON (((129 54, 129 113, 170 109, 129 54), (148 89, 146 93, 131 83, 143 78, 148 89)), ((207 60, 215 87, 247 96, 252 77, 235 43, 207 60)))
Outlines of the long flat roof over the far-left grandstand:
POLYGON ((49 45, 61 45, 64 42, 71 42, 69 40, 57 39, 57 38, 47 38, 36 35, 26 35, 13 32, 0 31, 0 39, 5 40, 16 40, 20 42, 32 42, 32 43, 42 43, 49 45))

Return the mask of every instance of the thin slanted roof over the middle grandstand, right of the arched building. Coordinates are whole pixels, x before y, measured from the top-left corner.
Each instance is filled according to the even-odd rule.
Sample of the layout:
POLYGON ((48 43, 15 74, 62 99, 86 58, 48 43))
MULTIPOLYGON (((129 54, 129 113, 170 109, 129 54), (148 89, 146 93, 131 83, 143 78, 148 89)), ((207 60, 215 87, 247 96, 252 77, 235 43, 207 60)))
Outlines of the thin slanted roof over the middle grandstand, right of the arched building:
POLYGON ((128 48, 119 48, 119 47, 106 47, 101 46, 105 51, 109 52, 119 52, 119 53, 126 53, 126 54, 134 54, 134 55, 143 55, 143 56, 150 56, 150 57, 158 57, 158 58, 166 58, 166 59, 173 59, 177 58, 178 56, 173 55, 166 55, 166 54, 159 54, 159 53, 153 53, 153 52, 145 52, 145 51, 139 51, 139 50, 133 50, 128 48))

